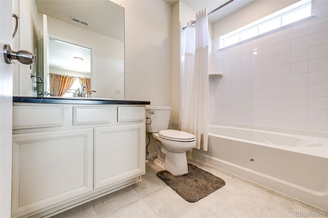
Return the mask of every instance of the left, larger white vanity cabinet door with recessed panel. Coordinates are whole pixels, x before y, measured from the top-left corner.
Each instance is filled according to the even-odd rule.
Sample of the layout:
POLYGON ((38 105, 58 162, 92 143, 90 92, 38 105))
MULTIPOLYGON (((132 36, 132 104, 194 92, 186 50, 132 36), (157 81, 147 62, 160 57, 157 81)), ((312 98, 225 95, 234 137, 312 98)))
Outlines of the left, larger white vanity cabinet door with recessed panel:
POLYGON ((13 135, 13 217, 93 190, 93 128, 13 135))

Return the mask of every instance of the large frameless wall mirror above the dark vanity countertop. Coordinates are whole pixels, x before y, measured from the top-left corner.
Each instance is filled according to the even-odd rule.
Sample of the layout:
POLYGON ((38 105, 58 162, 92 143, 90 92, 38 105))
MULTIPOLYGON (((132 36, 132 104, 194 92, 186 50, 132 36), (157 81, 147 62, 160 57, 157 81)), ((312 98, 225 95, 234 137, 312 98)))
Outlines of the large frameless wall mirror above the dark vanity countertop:
POLYGON ((78 78, 90 78, 93 97, 124 99, 124 8, 109 0, 19 0, 15 8, 14 45, 37 59, 32 69, 15 67, 14 95, 51 93, 55 74, 75 79, 61 96, 74 96, 78 78))

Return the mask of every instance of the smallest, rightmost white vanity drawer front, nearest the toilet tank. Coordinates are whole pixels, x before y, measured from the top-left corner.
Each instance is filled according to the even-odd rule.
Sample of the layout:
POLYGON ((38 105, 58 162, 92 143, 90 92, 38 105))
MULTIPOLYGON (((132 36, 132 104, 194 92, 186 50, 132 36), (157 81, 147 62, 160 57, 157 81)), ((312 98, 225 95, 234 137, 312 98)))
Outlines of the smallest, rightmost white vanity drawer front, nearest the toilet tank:
POLYGON ((145 107, 117 107, 117 122, 143 121, 145 107))

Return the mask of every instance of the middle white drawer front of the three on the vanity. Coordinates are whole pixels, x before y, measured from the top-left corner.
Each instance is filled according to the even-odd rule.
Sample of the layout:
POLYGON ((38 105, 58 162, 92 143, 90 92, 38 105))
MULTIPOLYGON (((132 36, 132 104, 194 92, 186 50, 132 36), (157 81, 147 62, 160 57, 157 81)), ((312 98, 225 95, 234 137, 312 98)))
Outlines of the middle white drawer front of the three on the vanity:
POLYGON ((112 108, 110 106, 73 107, 73 125, 110 123, 112 108))

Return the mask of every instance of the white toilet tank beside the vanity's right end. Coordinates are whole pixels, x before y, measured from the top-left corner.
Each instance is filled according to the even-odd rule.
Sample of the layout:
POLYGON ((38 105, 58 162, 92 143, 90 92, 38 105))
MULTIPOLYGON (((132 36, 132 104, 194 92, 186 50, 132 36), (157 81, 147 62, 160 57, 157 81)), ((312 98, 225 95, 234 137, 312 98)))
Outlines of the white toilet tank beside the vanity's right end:
POLYGON ((171 107, 146 106, 146 132, 158 133, 168 129, 171 115, 171 107))

